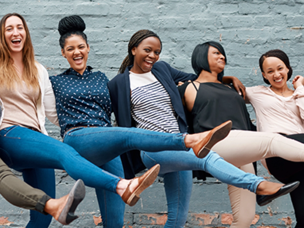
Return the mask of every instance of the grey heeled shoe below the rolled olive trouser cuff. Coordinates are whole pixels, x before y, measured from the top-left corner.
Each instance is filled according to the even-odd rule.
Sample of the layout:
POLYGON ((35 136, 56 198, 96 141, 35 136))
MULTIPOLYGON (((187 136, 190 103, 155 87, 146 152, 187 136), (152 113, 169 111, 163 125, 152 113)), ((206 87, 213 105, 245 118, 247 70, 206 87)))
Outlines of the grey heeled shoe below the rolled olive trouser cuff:
POLYGON ((67 197, 67 202, 62 209, 58 222, 63 225, 68 225, 72 221, 78 218, 77 215, 74 215, 74 212, 78 204, 85 198, 85 184, 81 179, 75 182, 69 196, 67 197))

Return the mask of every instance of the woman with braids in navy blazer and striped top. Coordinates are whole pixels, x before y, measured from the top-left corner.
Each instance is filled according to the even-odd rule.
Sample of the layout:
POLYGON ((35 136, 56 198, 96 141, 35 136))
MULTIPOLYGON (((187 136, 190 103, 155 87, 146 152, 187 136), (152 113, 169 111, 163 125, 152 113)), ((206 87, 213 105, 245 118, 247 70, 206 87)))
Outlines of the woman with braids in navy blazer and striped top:
MULTIPOLYGON (((120 74, 108 83, 112 108, 119 126, 136 126, 168 133, 187 131, 186 116, 176 85, 179 81, 194 80, 197 76, 178 71, 163 61, 157 61, 161 49, 160 38, 150 30, 139 30, 131 37, 128 56, 120 67, 120 74)), ((229 150, 233 151, 234 146, 229 150)), ((267 194, 268 196, 263 196, 261 200, 265 204, 276 196, 292 191, 298 185, 295 182, 282 187, 278 183, 262 181, 253 189, 252 185, 245 184, 244 180, 247 175, 251 175, 253 179, 259 177, 245 174, 213 151, 202 159, 197 158, 192 151, 177 153, 167 150, 150 153, 142 150, 140 155, 141 157, 138 157, 136 152, 130 151, 126 158, 123 158, 126 176, 132 177, 139 164, 142 164, 142 168, 149 168, 157 163, 161 165, 160 176, 164 178, 168 204, 165 228, 181 228, 186 223, 192 190, 192 170, 207 171, 224 183, 248 189, 256 194, 267 194), (139 159, 142 159, 143 163, 139 159), (265 188, 268 193, 261 191, 265 188)))

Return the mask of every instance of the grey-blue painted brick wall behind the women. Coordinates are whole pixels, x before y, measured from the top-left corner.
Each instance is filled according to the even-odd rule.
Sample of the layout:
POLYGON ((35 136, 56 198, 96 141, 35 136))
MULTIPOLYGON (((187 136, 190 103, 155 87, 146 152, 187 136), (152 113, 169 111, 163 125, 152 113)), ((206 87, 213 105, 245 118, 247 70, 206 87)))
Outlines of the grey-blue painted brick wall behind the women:
MULTIPOLYGON (((88 64, 111 79, 127 55, 134 32, 150 29, 163 42, 161 60, 192 72, 190 57, 198 43, 221 42, 228 64, 225 75, 240 78, 244 85, 264 84, 258 59, 267 50, 279 48, 290 57, 294 75, 304 66, 304 0, 0 0, 0 16, 18 12, 28 22, 36 59, 50 75, 68 68, 60 54, 59 20, 78 14, 86 22, 91 47, 88 64)), ((250 107, 251 118, 254 114, 250 107)), ((57 127, 47 123, 52 137, 60 140, 57 127)), ((17 173, 18 174, 18 173, 17 173)), ((273 179, 261 165, 258 174, 273 179)), ((19 175, 19 174, 18 174, 19 175)), ((20 177, 21 178, 21 177, 20 177)), ((92 177, 94 178, 94 177, 92 177)), ((57 197, 67 194, 73 180, 56 172, 57 197)), ((166 199, 162 179, 149 187, 134 207, 126 206, 126 228, 158 228, 166 221, 166 199)), ((102 227, 95 191, 77 209, 80 218, 66 227, 102 227)), ((226 185, 214 178, 193 180, 193 191, 185 227, 229 227, 231 209, 226 185)), ((16 208, 0 196, 0 227, 25 227, 27 210, 16 208)), ((294 227, 289 195, 256 209, 251 227, 294 227)), ((53 219, 50 227, 61 227, 53 219)))

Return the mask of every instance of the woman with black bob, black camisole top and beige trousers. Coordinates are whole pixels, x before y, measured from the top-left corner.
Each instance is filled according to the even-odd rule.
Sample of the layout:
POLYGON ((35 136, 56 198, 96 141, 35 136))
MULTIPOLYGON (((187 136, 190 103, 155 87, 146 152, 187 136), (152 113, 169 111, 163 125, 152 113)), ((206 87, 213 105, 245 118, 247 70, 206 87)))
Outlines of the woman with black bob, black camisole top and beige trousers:
MULTIPOLYGON (((254 173, 252 162, 267 157, 304 161, 304 144, 280 134, 251 131, 252 125, 244 98, 232 86, 223 83, 218 76, 223 72, 226 61, 220 43, 206 42, 195 47, 192 66, 198 78, 178 88, 185 106, 190 132, 203 132, 217 123, 232 120, 232 130, 228 136, 212 149, 229 163, 247 172, 254 173), (204 61, 202 56, 205 58, 204 61), (209 70, 203 68, 203 62, 208 62, 209 70), (198 69, 202 71, 199 72, 198 69)), ((233 212, 230 227, 250 227, 255 215, 255 195, 233 186, 228 186, 228 190, 233 212)), ((265 205, 260 197, 257 203, 260 206, 265 205)))

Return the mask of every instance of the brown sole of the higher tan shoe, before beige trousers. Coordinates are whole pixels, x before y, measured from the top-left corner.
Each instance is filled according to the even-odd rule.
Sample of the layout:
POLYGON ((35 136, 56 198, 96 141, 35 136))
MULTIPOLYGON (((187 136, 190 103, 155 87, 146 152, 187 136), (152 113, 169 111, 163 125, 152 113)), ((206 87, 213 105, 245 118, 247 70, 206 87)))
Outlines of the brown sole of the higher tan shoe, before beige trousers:
POLYGON ((232 127, 232 121, 227 121, 225 123, 222 123, 218 126, 218 129, 215 129, 215 131, 211 134, 209 140, 203 146, 199 152, 197 153, 197 157, 204 158, 207 156, 211 148, 218 143, 219 141, 226 138, 226 136, 229 134, 232 127))

